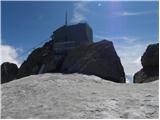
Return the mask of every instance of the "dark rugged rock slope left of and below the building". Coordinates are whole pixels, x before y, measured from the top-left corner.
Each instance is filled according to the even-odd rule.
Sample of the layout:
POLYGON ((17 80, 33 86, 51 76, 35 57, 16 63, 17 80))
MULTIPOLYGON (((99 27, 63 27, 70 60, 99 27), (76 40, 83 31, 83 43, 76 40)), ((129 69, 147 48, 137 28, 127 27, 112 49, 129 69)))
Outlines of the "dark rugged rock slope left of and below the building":
POLYGON ((19 68, 17 78, 38 73, 53 72, 56 69, 52 41, 43 47, 35 49, 19 68))

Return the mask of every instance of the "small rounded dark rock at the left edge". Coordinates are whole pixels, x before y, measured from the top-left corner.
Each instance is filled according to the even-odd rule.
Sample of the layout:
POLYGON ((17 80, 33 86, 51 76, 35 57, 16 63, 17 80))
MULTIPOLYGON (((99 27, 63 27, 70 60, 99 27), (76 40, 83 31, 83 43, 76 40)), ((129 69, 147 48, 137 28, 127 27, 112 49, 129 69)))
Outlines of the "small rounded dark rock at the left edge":
POLYGON ((5 62, 1 65, 1 83, 9 82, 15 79, 18 67, 14 63, 5 62))

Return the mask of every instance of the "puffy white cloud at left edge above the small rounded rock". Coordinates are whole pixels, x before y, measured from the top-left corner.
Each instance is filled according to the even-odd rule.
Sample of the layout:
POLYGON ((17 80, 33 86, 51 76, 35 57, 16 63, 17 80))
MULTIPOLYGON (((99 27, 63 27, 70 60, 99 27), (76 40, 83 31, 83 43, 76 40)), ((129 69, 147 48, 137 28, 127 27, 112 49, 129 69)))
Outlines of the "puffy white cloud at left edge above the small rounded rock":
POLYGON ((21 60, 18 59, 18 52, 21 52, 22 49, 15 48, 10 45, 1 45, 1 57, 0 57, 0 64, 3 62, 11 62, 20 66, 21 60))

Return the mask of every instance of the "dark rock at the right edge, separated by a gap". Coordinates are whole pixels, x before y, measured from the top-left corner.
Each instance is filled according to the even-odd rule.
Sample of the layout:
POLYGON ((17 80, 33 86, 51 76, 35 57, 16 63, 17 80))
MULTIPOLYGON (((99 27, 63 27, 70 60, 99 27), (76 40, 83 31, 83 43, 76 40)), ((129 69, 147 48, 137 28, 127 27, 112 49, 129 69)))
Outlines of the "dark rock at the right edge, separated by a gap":
POLYGON ((143 68, 134 75, 134 83, 151 82, 159 79, 159 44, 147 47, 141 58, 143 68))

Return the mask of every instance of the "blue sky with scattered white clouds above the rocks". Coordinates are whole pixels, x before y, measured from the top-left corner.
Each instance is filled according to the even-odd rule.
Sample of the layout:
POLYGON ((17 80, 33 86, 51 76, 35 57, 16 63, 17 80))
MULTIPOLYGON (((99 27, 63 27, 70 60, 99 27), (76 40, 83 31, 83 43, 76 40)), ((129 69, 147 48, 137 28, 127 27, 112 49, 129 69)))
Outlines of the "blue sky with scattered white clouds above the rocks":
POLYGON ((95 42, 113 41, 126 74, 134 74, 141 68, 140 57, 147 45, 158 42, 158 7, 155 1, 2 2, 1 61, 20 64, 27 54, 17 56, 64 25, 67 11, 69 24, 87 22, 92 27, 95 42))

